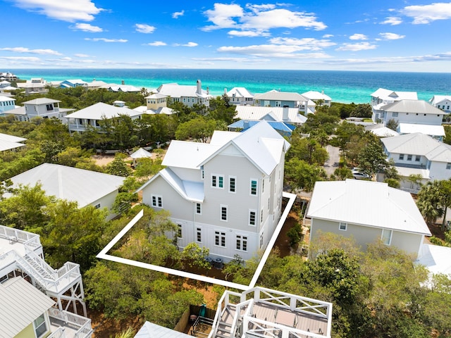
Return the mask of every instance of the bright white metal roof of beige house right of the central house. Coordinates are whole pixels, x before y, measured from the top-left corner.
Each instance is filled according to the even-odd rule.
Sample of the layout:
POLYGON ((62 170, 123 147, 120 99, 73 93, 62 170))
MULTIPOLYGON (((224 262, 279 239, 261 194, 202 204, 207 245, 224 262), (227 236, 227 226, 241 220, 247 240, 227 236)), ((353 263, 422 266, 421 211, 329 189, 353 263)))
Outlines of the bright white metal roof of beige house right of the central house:
POLYGON ((412 196, 383 182, 316 182, 307 216, 431 235, 412 196))

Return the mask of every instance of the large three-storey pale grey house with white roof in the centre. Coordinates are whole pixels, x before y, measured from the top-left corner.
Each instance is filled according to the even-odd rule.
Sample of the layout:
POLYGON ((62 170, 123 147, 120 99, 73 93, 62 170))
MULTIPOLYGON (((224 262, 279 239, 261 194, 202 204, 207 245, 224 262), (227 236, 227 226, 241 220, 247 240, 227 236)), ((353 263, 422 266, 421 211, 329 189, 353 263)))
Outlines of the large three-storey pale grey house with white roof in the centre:
POLYGON ((178 246, 248 260, 264 249, 280 218, 290 144, 262 121, 246 132, 214 132, 209 144, 172 141, 166 168, 145 183, 142 201, 168 210, 178 246))

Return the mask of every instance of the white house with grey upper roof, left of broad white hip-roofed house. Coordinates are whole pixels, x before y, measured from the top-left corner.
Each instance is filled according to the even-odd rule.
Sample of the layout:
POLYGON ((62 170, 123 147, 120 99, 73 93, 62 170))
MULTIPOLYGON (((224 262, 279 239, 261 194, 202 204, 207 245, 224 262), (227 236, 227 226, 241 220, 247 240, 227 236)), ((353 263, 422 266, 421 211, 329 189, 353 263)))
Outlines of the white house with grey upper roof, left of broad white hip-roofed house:
POLYGON ((47 98, 34 99, 25 101, 22 107, 12 109, 7 112, 7 115, 14 115, 16 120, 30 121, 32 118, 58 118, 63 120, 63 117, 70 111, 71 108, 60 108, 61 101, 47 98))

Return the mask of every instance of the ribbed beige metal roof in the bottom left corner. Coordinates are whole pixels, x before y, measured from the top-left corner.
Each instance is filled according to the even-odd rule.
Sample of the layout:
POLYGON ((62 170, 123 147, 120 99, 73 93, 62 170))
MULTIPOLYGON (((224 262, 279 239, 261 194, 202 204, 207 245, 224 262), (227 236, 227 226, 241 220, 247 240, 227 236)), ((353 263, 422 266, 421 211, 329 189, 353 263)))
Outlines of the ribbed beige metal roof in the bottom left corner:
POLYGON ((16 337, 55 301, 25 281, 15 277, 0 284, 0 337, 16 337))

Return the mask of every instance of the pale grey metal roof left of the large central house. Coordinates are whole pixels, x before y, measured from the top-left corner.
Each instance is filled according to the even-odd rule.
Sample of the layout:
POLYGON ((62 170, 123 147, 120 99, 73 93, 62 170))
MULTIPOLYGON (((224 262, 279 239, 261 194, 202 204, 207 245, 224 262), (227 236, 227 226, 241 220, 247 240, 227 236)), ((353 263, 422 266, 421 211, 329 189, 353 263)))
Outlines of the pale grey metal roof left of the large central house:
POLYGON ((49 196, 76 201, 82 208, 121 187, 125 177, 97 173, 96 171, 44 163, 11 177, 13 187, 35 186, 38 182, 49 196))

